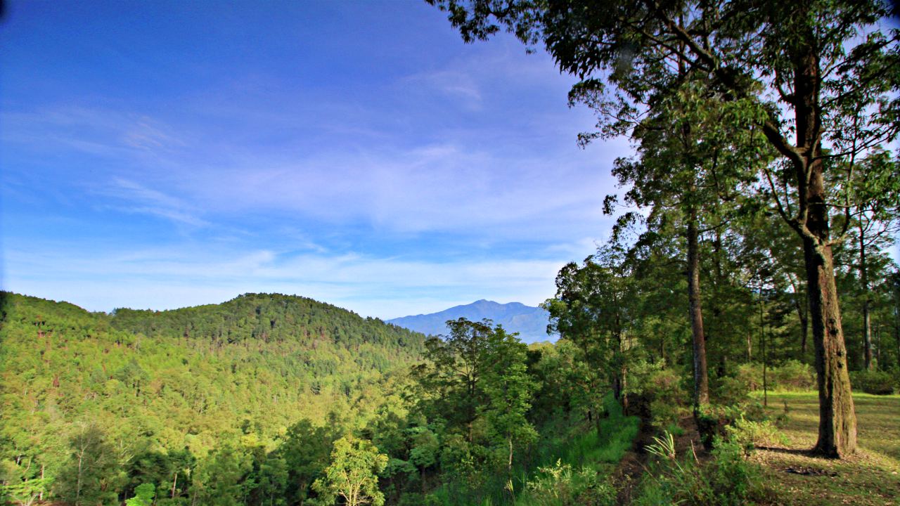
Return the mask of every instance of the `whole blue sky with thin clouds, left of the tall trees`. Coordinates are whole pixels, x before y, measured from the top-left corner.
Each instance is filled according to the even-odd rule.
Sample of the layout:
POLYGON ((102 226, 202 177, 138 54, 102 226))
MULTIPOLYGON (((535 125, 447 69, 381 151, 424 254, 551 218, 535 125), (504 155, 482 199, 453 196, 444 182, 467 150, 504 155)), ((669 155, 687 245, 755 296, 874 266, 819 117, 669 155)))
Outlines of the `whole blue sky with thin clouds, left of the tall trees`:
POLYGON ((12 1, 2 285, 93 311, 536 304, 608 233, 572 77, 418 1, 12 1))

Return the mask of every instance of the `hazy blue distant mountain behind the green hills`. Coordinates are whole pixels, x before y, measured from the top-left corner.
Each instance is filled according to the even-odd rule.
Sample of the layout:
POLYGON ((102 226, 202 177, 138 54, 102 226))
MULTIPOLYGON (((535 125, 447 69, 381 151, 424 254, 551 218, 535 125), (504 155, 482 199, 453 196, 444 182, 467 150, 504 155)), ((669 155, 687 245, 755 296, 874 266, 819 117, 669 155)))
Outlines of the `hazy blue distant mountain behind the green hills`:
POLYGON ((550 313, 539 307, 527 306, 523 303, 495 303, 493 301, 475 301, 446 309, 442 312, 430 314, 417 314, 388 320, 399 327, 415 330, 423 334, 437 336, 446 334, 447 320, 465 318, 471 321, 481 321, 485 318, 495 324, 503 325, 509 332, 518 332, 519 339, 527 343, 551 340, 555 341, 555 335, 547 335, 547 323, 550 313))

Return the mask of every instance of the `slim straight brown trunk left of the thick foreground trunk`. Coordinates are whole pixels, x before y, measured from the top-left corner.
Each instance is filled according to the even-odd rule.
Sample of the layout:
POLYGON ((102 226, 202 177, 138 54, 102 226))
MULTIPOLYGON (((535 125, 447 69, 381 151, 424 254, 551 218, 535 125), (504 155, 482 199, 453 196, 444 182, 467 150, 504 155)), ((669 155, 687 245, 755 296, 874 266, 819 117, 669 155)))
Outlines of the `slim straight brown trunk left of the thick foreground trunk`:
POLYGON ((698 246, 697 211, 688 217, 688 301, 690 328, 694 335, 694 410, 709 403, 707 377, 707 342, 703 334, 703 309, 700 302, 700 250, 698 246))

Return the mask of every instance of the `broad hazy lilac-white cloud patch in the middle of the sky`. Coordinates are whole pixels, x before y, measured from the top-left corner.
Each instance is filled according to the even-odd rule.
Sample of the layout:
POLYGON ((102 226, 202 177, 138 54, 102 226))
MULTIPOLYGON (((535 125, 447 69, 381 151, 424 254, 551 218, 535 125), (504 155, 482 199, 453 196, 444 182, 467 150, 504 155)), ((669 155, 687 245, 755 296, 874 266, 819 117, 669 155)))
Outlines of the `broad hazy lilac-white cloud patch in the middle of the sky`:
POLYGON ((401 232, 478 227, 508 235, 527 233, 524 226, 563 231, 596 223, 608 174, 583 167, 595 159, 582 152, 556 156, 498 156, 455 145, 328 153, 195 170, 177 185, 217 212, 289 210, 401 232))

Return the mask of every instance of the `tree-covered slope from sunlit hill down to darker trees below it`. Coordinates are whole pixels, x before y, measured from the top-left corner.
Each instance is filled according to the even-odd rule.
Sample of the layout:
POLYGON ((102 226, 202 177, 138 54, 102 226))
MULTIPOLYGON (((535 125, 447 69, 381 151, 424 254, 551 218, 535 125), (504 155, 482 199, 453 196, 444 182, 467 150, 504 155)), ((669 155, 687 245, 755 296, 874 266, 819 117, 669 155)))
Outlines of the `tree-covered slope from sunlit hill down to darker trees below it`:
POLYGON ((529 349, 489 321, 426 340, 284 295, 2 307, 10 504, 507 502, 539 497, 534 468, 561 456, 591 493, 637 427, 603 385, 581 388, 576 348, 529 349))

